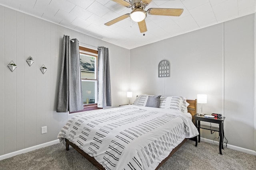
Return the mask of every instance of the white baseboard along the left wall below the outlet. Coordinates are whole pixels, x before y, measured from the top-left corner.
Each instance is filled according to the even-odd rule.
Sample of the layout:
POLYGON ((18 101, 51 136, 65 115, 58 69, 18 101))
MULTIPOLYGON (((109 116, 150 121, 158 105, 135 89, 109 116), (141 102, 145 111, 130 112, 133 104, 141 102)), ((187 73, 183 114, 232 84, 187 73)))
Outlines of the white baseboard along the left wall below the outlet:
POLYGON ((36 146, 34 146, 34 147, 29 147, 29 148, 26 148, 26 149, 17 150, 17 151, 15 151, 15 152, 11 152, 11 153, 8 153, 8 154, 1 155, 1 156, 0 156, 0 160, 6 159, 6 158, 10 158, 10 157, 16 156, 16 155, 18 155, 18 154, 30 152, 30 151, 32 151, 32 150, 36 150, 36 149, 48 147, 48 146, 54 145, 54 144, 56 144, 56 143, 60 143, 60 140, 57 139, 57 140, 55 140, 55 141, 50 141, 50 142, 47 142, 47 143, 42 143, 42 144, 36 145, 36 146))

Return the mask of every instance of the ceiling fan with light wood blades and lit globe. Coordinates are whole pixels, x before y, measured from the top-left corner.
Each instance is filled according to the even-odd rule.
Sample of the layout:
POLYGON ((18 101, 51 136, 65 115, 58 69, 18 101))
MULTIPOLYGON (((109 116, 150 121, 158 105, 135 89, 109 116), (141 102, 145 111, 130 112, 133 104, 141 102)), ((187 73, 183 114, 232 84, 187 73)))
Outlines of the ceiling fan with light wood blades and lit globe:
POLYGON ((176 9, 176 8, 150 8, 147 11, 144 11, 146 6, 148 6, 148 4, 152 0, 129 0, 129 2, 125 0, 112 0, 112 1, 122 6, 125 6, 127 8, 132 8, 132 12, 130 14, 124 14, 118 18, 115 18, 114 20, 111 20, 105 23, 105 25, 110 26, 130 16, 130 18, 133 21, 138 22, 141 33, 144 33, 147 31, 147 26, 145 22, 145 18, 147 17, 147 14, 159 15, 159 16, 180 16, 183 12, 183 9, 176 9))

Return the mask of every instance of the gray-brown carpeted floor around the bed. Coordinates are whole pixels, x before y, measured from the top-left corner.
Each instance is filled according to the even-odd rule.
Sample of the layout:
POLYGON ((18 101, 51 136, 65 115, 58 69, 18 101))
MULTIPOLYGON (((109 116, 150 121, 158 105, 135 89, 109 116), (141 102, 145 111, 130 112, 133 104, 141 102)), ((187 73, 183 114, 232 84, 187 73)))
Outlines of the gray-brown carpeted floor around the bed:
MULTIPOLYGON (((256 156, 188 140, 159 170, 256 170, 256 156)), ((0 161, 0 170, 97 170, 70 147, 55 144, 0 161)))

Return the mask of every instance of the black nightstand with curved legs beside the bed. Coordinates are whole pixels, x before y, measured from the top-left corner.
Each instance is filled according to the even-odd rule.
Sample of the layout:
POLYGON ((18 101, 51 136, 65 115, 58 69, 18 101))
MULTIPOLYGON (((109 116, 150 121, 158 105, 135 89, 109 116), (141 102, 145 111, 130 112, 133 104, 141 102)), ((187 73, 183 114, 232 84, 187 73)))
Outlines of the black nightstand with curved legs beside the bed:
POLYGON ((219 149, 220 149, 220 154, 222 154, 221 149, 224 149, 223 148, 223 137, 224 137, 223 123, 224 123, 225 117, 208 118, 208 117, 200 116, 198 114, 194 115, 194 117, 195 117, 195 126, 196 126, 196 128, 198 129, 198 132, 199 132, 198 142, 200 142, 200 129, 207 129, 207 130, 210 130, 210 131, 219 132, 219 135, 220 135, 219 149), (200 121, 205 121, 205 122, 210 122, 210 123, 217 123, 217 124, 219 124, 219 127, 201 125, 200 121))

